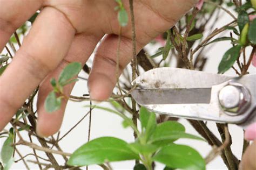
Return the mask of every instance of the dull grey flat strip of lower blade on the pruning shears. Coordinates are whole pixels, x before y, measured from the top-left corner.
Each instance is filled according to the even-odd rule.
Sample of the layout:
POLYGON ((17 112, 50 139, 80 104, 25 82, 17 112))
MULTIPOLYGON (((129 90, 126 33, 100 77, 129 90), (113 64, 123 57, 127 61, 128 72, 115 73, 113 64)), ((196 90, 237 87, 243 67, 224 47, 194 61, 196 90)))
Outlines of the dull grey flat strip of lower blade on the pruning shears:
POLYGON ((135 89, 133 98, 140 105, 210 103, 211 88, 135 89))

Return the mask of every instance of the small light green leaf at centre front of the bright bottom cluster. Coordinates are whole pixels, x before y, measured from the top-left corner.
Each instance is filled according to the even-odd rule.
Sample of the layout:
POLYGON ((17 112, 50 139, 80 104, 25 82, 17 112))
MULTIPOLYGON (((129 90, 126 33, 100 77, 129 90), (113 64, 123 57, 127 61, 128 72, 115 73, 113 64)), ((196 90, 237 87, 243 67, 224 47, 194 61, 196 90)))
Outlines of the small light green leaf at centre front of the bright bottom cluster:
POLYGON ((138 142, 129 144, 131 149, 137 154, 152 154, 158 150, 158 146, 152 144, 140 144, 138 142))

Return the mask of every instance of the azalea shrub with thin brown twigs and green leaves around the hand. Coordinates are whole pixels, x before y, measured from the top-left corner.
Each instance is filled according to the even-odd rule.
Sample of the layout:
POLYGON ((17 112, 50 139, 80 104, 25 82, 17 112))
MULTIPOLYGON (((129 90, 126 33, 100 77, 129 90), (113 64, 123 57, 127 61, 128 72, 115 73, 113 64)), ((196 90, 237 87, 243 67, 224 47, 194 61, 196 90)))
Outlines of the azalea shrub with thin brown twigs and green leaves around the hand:
MULTIPOLYGON (((117 6, 113 10, 117 13, 121 32, 130 19, 133 20, 134 18, 129 17, 133 16, 132 11, 129 15, 122 0, 116 0, 116 3, 117 6)), ((199 1, 197 6, 181 18, 175 26, 151 42, 151 45, 157 43, 162 46, 158 51, 151 55, 144 48, 136 55, 132 62, 132 73, 130 68, 124 70, 122 81, 118 81, 113 95, 105 101, 111 104, 109 108, 92 105, 88 95, 66 96, 63 93, 65 86, 83 79, 83 77, 78 76, 81 69, 90 74, 90 63, 84 66, 79 62, 70 63, 62 70, 57 80, 55 78, 51 80, 52 91, 45 100, 45 110, 52 114, 52 112, 60 109, 63 99, 73 102, 87 102, 85 107, 90 111, 85 117, 97 109, 121 117, 123 127, 131 128, 134 131, 134 142, 127 143, 114 137, 100 137, 86 142, 73 153, 62 151, 58 142, 65 135, 59 138, 58 134, 57 139, 54 137, 40 138, 35 132, 37 111, 33 108, 33 99, 38 93, 37 88, 10 122, 12 128, 0 133, 0 138, 5 138, 1 150, 0 169, 9 169, 17 161, 23 161, 24 165, 29 168, 25 157, 18 152, 18 145, 32 148, 32 155, 36 159, 34 163, 38 164, 40 169, 43 167, 79 169, 89 165, 99 165, 103 169, 111 169, 111 162, 125 160, 135 160, 134 169, 151 170, 154 169, 156 162, 164 164, 164 169, 206 169, 208 162, 217 155, 221 155, 228 169, 238 169, 240 160, 234 156, 231 150, 232 140, 226 124, 217 124, 221 140, 213 134, 205 122, 201 121, 188 120, 200 136, 186 133, 185 126, 180 124, 177 118, 157 115, 135 103, 130 95, 131 91, 136 88, 131 85, 133 80, 131 77, 153 68, 169 67, 173 58, 177 61, 176 67, 178 68, 203 70, 207 62, 205 49, 211 48, 220 41, 228 41, 230 46, 226 47, 226 52, 223 54, 219 66, 216 66, 218 73, 224 74, 227 70, 233 69, 239 76, 248 74, 249 67, 256 67, 255 9, 255 0, 245 3, 220 0, 199 1), (220 28, 215 28, 214 24, 219 20, 220 11, 230 15, 233 20, 220 28), (210 22, 211 19, 215 22, 210 22), (228 32, 230 36, 220 36, 223 32, 228 32), (248 51, 250 51, 249 55, 248 51), (30 139, 36 138, 41 146, 32 143, 32 140, 30 142, 24 140, 22 137, 24 133, 28 133, 30 139), (178 144, 177 140, 180 138, 200 140, 211 145, 213 150, 206 158, 203 158, 196 148, 178 144), (41 163, 36 150, 45 152, 50 164, 41 163), (17 155, 15 153, 21 159, 15 160, 17 155), (59 166, 53 154, 62 155, 65 164, 59 166)), ((20 39, 29 30, 37 15, 38 12, 20 27, 9 40, 8 45, 6 45, 6 53, 0 56, 0 76, 12 61, 13 53, 17 51, 17 45, 21 45, 20 39)), ((134 20, 132 25, 134 26, 134 20)), ((135 33, 133 32, 133 34, 135 33)), ((117 55, 119 48, 122 46, 118 47, 117 55)), ((76 126, 69 132, 74 128, 76 126)), ((248 142, 245 140, 241 147, 245 151, 247 146, 248 142)))

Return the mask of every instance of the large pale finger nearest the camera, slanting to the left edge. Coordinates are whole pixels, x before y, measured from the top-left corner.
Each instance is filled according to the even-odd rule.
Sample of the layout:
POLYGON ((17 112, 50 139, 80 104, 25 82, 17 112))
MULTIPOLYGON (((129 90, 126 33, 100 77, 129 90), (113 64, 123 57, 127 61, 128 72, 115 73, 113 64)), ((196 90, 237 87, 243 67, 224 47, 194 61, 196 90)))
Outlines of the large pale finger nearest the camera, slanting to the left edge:
POLYGON ((0 77, 0 131, 31 91, 62 61, 74 35, 75 29, 63 13, 50 7, 42 10, 0 77))

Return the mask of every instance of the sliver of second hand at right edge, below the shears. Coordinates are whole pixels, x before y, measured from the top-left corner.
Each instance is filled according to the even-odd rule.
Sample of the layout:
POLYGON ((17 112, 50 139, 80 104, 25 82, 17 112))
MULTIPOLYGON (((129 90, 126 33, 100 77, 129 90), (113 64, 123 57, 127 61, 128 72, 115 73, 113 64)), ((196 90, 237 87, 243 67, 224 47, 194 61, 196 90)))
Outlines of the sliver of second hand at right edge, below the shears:
POLYGON ((256 169, 256 123, 250 125, 245 131, 246 140, 254 140, 253 144, 250 145, 240 162, 239 169, 255 170, 256 169))

